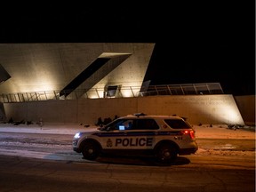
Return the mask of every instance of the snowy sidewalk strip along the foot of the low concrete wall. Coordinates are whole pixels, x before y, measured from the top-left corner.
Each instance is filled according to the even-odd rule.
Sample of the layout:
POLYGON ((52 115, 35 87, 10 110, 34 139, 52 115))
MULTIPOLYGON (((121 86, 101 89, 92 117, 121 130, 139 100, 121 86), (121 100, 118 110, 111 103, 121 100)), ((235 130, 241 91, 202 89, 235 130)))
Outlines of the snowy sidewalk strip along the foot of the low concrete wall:
MULTIPOLYGON (((248 139, 255 140, 255 128, 245 127, 236 130, 228 129, 226 125, 193 125, 198 139, 248 139)), ((48 134, 70 134, 78 131, 94 131, 96 126, 86 127, 84 124, 54 124, 44 123, 42 127, 38 124, 0 124, 0 132, 28 132, 48 134)))

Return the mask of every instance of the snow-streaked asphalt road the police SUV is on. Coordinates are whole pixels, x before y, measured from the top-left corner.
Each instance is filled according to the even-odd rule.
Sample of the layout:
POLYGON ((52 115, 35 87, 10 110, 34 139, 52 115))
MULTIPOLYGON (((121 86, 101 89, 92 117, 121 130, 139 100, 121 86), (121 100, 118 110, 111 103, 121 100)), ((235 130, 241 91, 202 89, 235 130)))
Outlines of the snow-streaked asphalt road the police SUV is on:
POLYGON ((159 166, 150 158, 72 151, 73 135, 1 132, 2 191, 255 191, 255 140, 197 140, 195 155, 159 166))

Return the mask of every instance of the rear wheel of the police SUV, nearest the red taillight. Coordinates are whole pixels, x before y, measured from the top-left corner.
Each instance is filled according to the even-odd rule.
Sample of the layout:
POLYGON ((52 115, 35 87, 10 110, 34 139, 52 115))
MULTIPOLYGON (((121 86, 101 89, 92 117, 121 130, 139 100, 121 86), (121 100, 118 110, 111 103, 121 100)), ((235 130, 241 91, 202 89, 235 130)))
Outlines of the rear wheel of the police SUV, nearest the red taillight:
POLYGON ((177 148, 169 143, 161 144, 156 148, 155 156, 157 163, 172 164, 178 156, 177 148))

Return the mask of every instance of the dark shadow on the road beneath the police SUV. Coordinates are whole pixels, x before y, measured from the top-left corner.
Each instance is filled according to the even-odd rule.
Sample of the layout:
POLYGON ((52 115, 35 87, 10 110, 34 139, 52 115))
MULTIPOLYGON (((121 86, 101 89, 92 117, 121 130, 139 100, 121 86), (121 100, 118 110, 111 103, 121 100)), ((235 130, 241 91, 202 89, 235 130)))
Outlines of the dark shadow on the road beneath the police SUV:
POLYGON ((178 156, 172 164, 156 163, 155 159, 151 156, 115 156, 115 155, 102 155, 96 160, 103 164, 129 164, 129 165, 147 165, 147 166, 172 166, 189 164, 190 160, 185 156, 178 156))

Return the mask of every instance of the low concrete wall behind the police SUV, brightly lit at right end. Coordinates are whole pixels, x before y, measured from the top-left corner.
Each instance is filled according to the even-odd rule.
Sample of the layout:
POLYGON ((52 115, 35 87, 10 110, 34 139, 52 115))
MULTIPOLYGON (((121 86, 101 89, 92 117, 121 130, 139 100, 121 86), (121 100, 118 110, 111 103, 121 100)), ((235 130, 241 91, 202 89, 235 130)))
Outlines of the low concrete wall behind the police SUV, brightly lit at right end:
POLYGON ((44 100, 4 103, 7 120, 95 124, 98 117, 113 118, 143 112, 148 115, 188 117, 191 124, 244 124, 232 95, 150 96, 97 100, 44 100))

